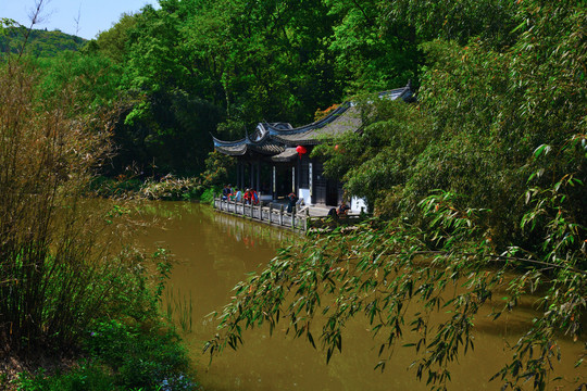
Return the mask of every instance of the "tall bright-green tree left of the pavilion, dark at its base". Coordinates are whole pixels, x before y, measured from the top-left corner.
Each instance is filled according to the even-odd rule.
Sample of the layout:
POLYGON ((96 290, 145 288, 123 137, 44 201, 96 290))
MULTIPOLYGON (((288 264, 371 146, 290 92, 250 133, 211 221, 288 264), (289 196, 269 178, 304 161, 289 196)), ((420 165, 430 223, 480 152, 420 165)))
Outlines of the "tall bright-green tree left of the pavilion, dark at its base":
POLYGON ((110 43, 105 33, 97 41, 124 60, 121 89, 126 109, 114 129, 122 152, 114 160, 115 172, 148 176, 203 169, 211 149, 209 133, 220 121, 220 110, 197 93, 201 85, 177 39, 182 20, 175 12, 173 2, 162 3, 161 10, 146 7, 140 14, 123 17, 113 31, 120 30, 112 36, 115 41, 110 43), (125 36, 123 46, 120 37, 125 36))

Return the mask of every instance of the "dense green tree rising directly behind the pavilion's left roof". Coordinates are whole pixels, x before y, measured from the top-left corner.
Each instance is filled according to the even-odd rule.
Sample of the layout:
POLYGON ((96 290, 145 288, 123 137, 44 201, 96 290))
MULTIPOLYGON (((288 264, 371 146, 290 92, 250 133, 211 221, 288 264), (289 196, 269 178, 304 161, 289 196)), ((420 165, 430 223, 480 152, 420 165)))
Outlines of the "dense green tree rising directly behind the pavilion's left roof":
POLYGON ((189 45, 235 119, 303 123, 339 90, 322 43, 332 21, 320 1, 227 0, 202 9, 186 26, 189 45))

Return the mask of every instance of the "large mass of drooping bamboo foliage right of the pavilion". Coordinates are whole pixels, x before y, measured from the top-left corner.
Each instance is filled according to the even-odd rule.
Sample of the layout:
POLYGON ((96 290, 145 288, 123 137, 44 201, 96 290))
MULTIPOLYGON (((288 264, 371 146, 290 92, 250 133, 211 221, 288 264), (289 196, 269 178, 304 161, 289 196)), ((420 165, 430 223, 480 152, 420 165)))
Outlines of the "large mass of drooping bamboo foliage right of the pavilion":
POLYGON ((573 178, 576 186, 562 187, 560 197, 572 224, 585 227, 586 173, 579 147, 585 134, 579 109, 586 93, 579 65, 585 50, 577 50, 585 13, 552 5, 550 13, 560 17, 547 23, 549 12, 528 2, 509 10, 517 12, 510 20, 529 21, 526 16, 532 15, 534 21, 534 27, 520 25, 511 47, 496 45, 512 39, 500 38, 501 29, 466 46, 442 39, 422 43, 428 65, 422 73, 419 106, 401 113, 386 109, 386 102, 367 104, 361 134, 316 150, 328 159, 326 174, 345 179, 348 191, 366 197, 372 209, 386 216, 410 215, 433 189, 464 194, 472 207, 492 211, 488 218, 498 245, 516 241, 530 248, 540 236, 520 229, 528 212, 528 177, 530 185, 546 188, 573 178), (551 36, 552 25, 566 33, 551 36), (544 40, 549 43, 536 43, 544 40), (537 52, 545 60, 537 61, 537 52), (558 152, 538 153, 550 150, 558 152))

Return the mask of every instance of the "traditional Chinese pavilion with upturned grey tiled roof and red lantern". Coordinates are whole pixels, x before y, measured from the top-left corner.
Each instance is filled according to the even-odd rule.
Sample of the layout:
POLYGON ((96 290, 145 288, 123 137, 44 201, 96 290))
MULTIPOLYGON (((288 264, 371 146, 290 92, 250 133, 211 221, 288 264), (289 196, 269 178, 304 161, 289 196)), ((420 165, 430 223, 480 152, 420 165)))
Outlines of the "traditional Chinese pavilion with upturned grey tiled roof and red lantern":
MULTIPOLYGON (((384 91, 379 98, 412 101, 410 84, 384 91)), ((359 109, 345 102, 326 117, 292 127, 287 123, 260 123, 243 139, 222 141, 213 137, 216 151, 237 159, 237 186, 254 188, 264 201, 278 200, 290 192, 305 204, 336 206, 342 201, 342 184, 323 175, 322 161, 309 157, 314 146, 348 131, 360 131, 359 109)), ((352 198, 351 210, 360 212, 362 200, 352 198)))

